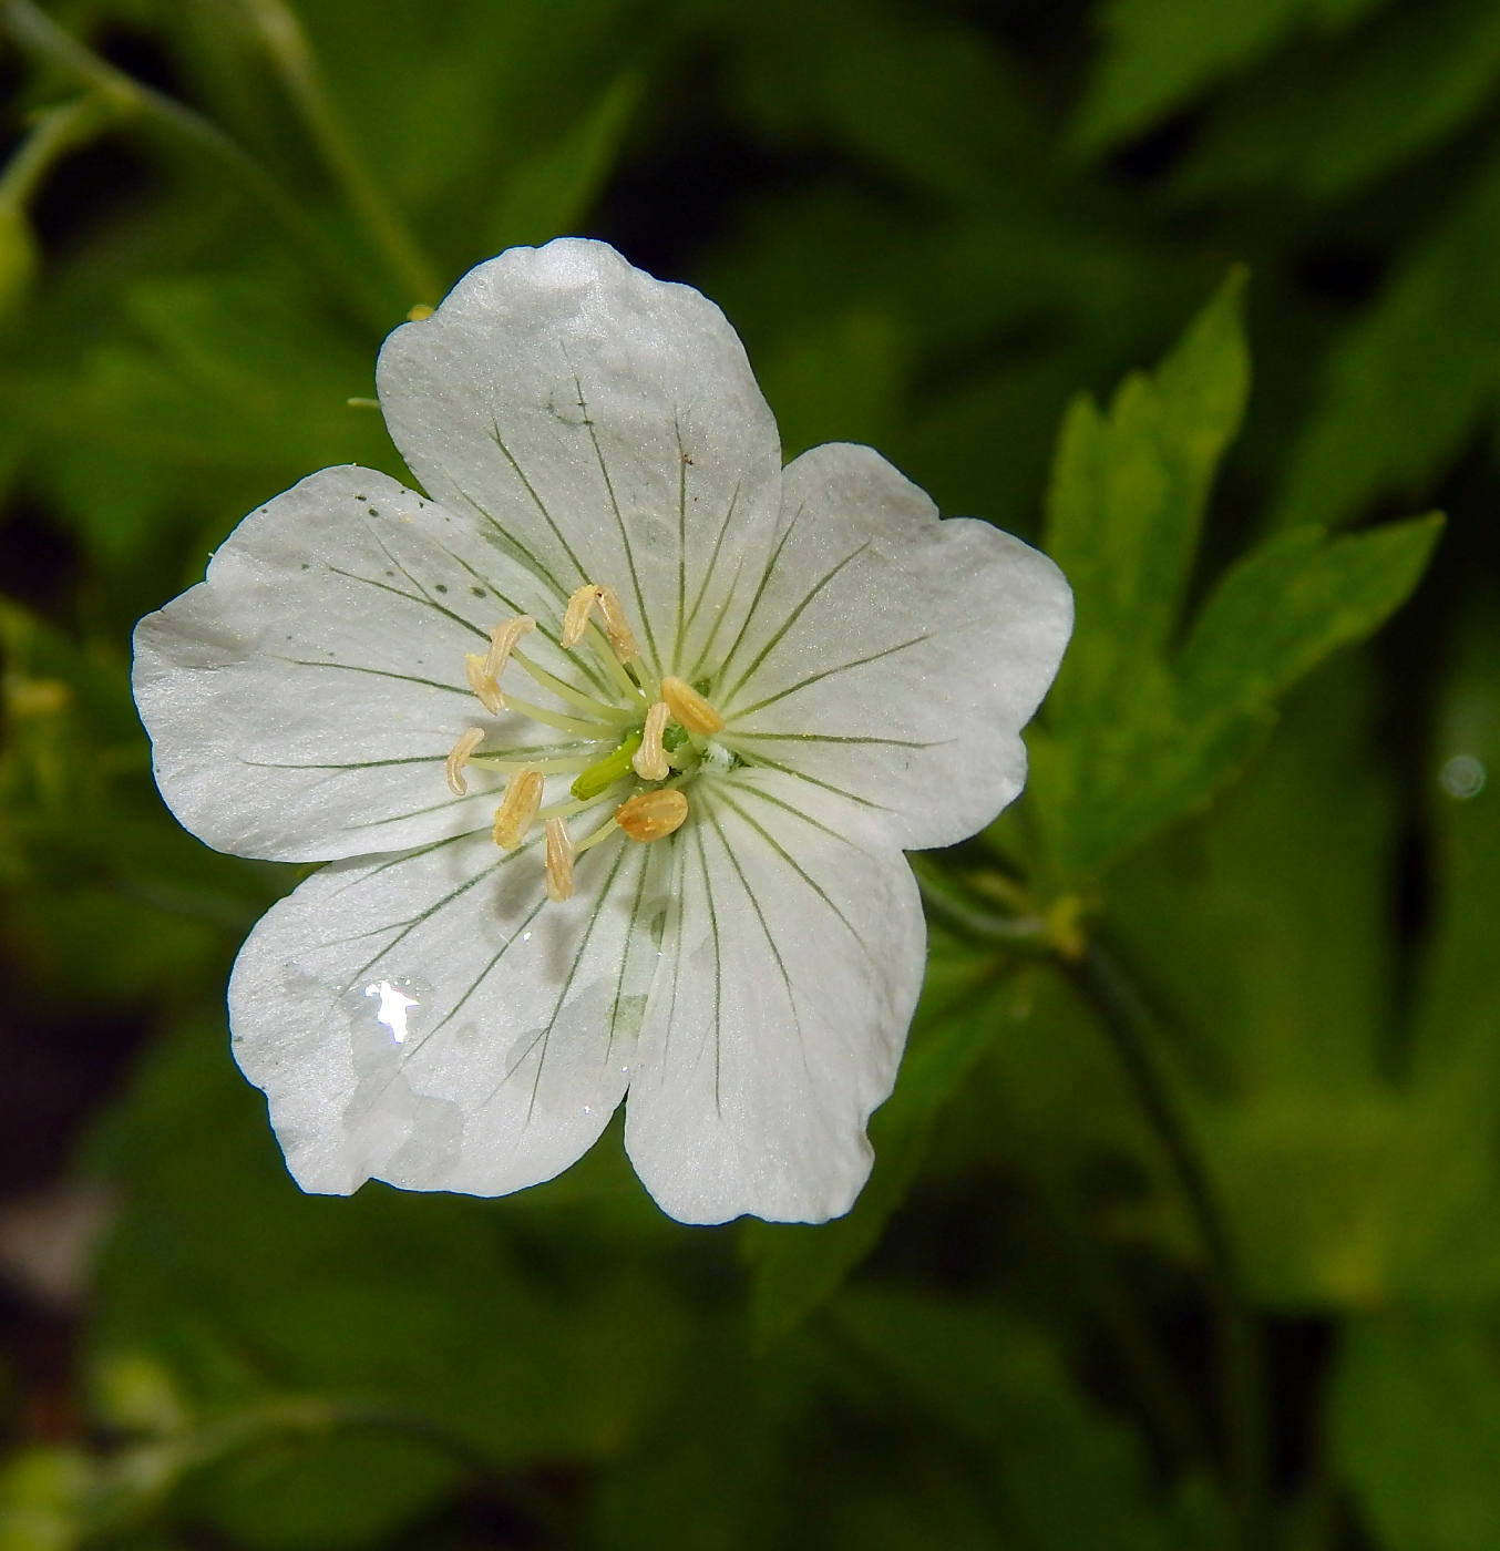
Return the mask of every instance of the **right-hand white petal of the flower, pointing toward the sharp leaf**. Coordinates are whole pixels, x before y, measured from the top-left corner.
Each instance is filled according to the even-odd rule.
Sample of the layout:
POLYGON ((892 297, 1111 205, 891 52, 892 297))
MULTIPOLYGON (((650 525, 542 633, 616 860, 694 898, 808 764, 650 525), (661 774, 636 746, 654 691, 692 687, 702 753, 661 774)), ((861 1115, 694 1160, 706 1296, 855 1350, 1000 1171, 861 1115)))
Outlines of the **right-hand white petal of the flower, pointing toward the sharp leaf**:
POLYGON ((723 741, 864 805, 907 850, 973 834, 1025 782, 1021 729, 1072 628, 1063 574, 987 523, 940 521, 867 447, 804 453, 785 510, 710 690, 723 741))

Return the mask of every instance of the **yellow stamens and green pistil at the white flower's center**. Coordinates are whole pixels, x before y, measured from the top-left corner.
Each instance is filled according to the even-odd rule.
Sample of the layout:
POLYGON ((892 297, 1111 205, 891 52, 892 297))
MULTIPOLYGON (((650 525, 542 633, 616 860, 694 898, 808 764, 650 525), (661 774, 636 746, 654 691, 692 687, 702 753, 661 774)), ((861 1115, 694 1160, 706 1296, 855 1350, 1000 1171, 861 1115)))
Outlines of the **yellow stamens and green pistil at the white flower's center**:
POLYGON ((529 614, 496 625, 490 631, 489 651, 465 658, 464 676, 492 717, 501 712, 529 717, 562 732, 571 746, 557 755, 507 758, 486 754, 486 729, 470 727, 448 752, 445 776, 456 797, 468 791, 464 776, 468 766, 509 777, 495 810, 495 844, 517 850, 540 822, 546 834, 548 895, 562 901, 572 895, 574 862, 589 847, 622 834, 650 844, 683 827, 689 813, 683 785, 700 766, 721 763, 724 751, 710 740, 724 731, 724 718, 704 698, 707 686, 670 676, 658 681, 650 675, 613 586, 580 586, 568 599, 558 641, 568 651, 586 645, 622 704, 586 695, 529 658, 518 642, 535 628, 537 620, 529 614), (568 712, 503 692, 501 675, 512 662, 555 695, 568 712), (568 800, 543 807, 548 776, 574 776, 568 800), (611 805, 608 817, 574 839, 568 820, 607 803, 611 805))

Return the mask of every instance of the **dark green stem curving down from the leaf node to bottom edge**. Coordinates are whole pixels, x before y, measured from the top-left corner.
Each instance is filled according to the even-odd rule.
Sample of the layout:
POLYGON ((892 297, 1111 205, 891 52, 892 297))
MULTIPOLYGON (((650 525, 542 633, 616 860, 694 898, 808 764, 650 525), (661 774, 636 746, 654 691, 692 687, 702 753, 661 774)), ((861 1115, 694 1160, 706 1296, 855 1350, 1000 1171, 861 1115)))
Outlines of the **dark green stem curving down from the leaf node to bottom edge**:
POLYGON ((1266 1391, 1260 1329, 1244 1294, 1239 1256, 1213 1194, 1208 1171, 1177 1111, 1156 1053, 1156 1021, 1118 962, 1098 943, 1080 959, 1058 960, 1098 1014, 1126 1079, 1177 1180, 1204 1250, 1218 1325, 1219 1387, 1229 1477, 1241 1545, 1260 1545, 1266 1495, 1266 1391))

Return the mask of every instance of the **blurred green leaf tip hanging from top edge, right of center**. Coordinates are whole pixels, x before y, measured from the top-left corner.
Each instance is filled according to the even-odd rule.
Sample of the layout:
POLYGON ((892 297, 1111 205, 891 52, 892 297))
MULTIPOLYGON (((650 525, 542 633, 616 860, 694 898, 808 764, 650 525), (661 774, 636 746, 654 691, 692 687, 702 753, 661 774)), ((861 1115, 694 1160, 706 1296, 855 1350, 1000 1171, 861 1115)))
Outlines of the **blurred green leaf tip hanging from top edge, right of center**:
POLYGON ((1309 25, 1346 26, 1390 0, 1106 0, 1106 47, 1078 112, 1086 149, 1115 144, 1309 25))

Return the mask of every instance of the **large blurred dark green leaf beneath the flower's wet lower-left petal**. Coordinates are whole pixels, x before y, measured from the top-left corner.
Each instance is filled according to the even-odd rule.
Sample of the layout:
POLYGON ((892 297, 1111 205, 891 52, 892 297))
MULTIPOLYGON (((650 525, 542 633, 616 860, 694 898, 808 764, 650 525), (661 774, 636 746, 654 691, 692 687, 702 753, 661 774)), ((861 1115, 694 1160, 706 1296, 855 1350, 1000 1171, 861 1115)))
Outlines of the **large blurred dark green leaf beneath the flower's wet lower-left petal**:
POLYGON ((126 1208, 90 1345, 164 1363, 205 1415, 321 1396, 413 1413, 498 1464, 594 1458, 633 1436, 678 1340, 670 1294, 596 1236, 625 1213, 548 1213, 548 1187, 515 1213, 371 1185, 304 1196, 217 1022, 152 1052, 92 1166, 126 1208), (513 1235, 527 1213, 546 1231, 513 1235))

